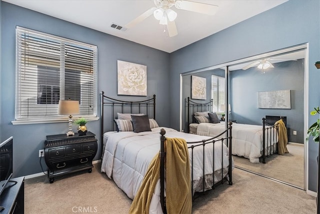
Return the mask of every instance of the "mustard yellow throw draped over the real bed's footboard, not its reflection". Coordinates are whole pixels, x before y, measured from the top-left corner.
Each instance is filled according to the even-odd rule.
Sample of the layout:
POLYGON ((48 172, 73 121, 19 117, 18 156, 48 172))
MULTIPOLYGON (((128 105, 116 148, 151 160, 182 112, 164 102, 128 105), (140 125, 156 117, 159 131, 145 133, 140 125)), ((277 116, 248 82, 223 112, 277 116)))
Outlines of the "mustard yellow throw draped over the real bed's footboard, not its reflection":
MULTIPOLYGON (((186 142, 180 138, 166 138, 164 149, 166 149, 165 193, 167 213, 191 213, 191 177, 186 142)), ((132 201, 129 213, 149 212, 152 193, 159 177, 160 157, 159 154, 156 154, 132 201)))

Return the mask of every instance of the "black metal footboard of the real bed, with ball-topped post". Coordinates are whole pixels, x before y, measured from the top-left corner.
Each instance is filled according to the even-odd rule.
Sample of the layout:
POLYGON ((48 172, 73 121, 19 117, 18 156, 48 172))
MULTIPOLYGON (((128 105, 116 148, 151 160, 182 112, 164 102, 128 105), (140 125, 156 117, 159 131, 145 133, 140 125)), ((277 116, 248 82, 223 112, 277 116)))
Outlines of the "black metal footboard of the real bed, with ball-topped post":
MULTIPOLYGON (((165 206, 165 197, 164 197, 164 163, 165 163, 165 155, 166 152, 164 150, 164 142, 165 142, 165 130, 161 129, 160 131, 160 203, 161 203, 161 208, 163 213, 167 213, 166 212, 166 206, 165 206)), ((203 148, 203 153, 202 153, 202 192, 206 191, 205 189, 207 189, 207 187, 205 188, 205 173, 204 173, 204 156, 205 156, 205 150, 204 147, 206 145, 212 145, 212 149, 213 149, 213 158, 212 158, 212 166, 213 166, 213 177, 214 177, 214 143, 216 142, 221 142, 221 180, 218 181, 217 183, 214 183, 214 178, 213 178, 213 182, 212 185, 210 186, 211 189, 213 189, 213 187, 217 184, 222 184, 223 180, 226 179, 229 183, 229 185, 232 185, 232 144, 231 144, 231 140, 232 140, 232 122, 228 122, 228 127, 227 129, 225 129, 222 133, 220 133, 219 135, 206 139, 206 140, 202 140, 202 141, 195 141, 195 142, 186 142, 188 144, 188 148, 191 149, 191 194, 192 194, 192 200, 193 200, 193 181, 192 181, 192 177, 193 177, 193 149, 195 147, 201 146, 203 148), (221 137, 221 138, 219 138, 221 137), (227 146, 228 149, 228 162, 229 165, 227 167, 227 174, 224 175, 223 174, 223 145, 227 146)))

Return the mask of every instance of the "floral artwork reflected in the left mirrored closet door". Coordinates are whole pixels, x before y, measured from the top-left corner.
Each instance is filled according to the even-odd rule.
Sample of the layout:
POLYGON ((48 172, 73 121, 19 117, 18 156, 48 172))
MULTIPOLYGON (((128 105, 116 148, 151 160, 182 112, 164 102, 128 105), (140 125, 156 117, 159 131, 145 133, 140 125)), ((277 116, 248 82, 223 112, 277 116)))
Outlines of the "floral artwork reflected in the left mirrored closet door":
POLYGON ((191 99, 206 100, 206 79, 191 76, 191 99))

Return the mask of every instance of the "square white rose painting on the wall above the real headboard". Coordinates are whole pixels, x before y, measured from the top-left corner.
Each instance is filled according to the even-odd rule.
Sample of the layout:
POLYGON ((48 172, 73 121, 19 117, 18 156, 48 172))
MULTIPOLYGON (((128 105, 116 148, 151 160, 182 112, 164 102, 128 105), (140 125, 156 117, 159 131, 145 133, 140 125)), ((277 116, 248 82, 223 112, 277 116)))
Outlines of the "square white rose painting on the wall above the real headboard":
POLYGON ((118 95, 146 96, 146 66, 117 61, 118 95))

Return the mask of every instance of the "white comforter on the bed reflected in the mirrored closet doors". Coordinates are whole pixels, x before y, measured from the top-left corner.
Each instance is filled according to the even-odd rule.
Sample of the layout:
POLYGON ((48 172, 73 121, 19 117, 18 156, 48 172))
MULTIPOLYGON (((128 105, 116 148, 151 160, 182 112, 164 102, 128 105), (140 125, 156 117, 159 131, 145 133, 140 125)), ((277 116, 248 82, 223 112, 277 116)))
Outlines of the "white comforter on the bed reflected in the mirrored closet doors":
MULTIPOLYGON (((224 122, 200 123, 196 134, 216 136, 224 129, 224 122)), ((276 141, 273 140, 273 135, 271 139, 271 145, 273 145, 274 141, 276 141)), ((263 148, 262 140, 262 126, 232 123, 232 154, 248 158, 252 163, 258 163, 263 148)))

